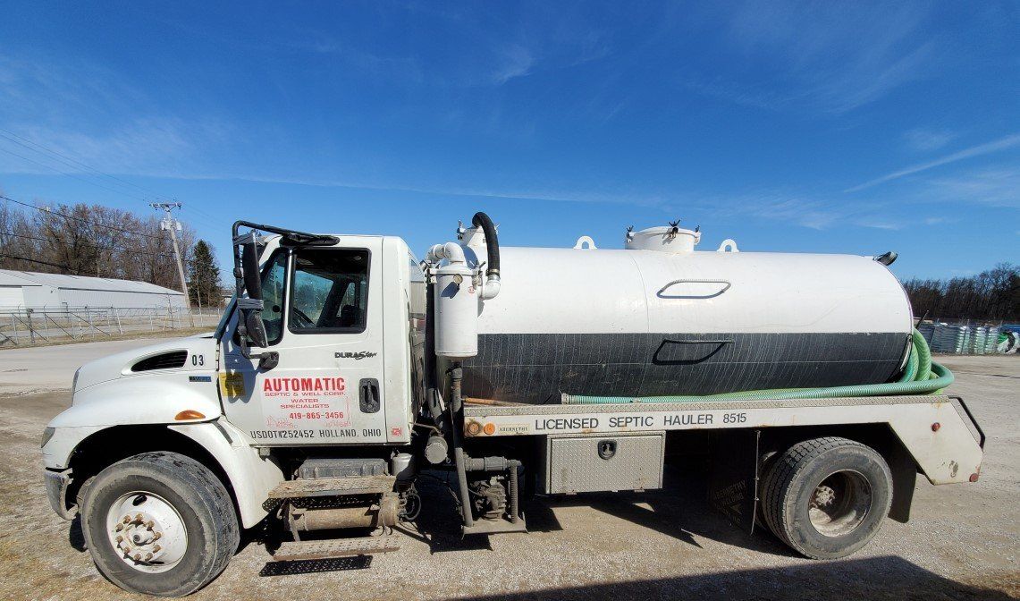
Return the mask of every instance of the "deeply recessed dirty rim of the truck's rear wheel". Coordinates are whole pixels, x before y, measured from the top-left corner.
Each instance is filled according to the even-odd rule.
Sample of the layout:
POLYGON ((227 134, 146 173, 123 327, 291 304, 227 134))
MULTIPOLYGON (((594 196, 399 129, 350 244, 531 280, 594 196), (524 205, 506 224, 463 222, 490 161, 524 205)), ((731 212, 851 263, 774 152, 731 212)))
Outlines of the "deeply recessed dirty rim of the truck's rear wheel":
POLYGON ((871 485, 859 471, 830 473, 811 494, 811 525, 826 537, 842 537, 861 525, 871 510, 871 485))

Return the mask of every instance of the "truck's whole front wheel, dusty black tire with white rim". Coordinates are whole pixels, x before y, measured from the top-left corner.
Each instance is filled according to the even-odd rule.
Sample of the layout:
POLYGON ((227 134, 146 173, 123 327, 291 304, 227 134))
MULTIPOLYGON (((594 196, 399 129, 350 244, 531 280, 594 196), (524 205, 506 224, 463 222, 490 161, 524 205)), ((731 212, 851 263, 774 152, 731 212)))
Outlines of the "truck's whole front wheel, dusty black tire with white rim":
POLYGON ((82 508, 96 567, 121 589, 180 597, 226 567, 241 541, 230 494, 198 461, 169 452, 99 472, 82 508))

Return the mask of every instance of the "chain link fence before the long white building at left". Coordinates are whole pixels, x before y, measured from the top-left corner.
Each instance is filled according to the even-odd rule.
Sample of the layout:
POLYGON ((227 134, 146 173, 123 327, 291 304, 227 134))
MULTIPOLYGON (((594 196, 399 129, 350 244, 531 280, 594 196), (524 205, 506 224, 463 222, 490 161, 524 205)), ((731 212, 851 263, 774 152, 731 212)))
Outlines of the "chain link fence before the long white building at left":
POLYGON ((219 307, 0 309, 0 348, 96 342, 174 330, 212 330, 219 307))

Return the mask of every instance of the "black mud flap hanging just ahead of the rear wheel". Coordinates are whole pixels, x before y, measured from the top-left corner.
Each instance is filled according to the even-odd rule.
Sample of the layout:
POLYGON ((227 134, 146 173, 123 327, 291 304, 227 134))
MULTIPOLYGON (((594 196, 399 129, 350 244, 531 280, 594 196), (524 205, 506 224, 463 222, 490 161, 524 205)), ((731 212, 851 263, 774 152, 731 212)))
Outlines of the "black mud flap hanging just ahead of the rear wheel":
POLYGON ((733 430, 711 438, 708 502, 750 533, 758 513, 760 430, 733 430))

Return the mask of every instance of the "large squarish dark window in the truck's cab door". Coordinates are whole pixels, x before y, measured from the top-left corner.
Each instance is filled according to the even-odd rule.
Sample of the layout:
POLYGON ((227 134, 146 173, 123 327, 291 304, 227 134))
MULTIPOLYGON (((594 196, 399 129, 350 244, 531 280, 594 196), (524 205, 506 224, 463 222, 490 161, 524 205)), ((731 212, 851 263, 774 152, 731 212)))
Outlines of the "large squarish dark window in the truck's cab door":
POLYGON ((364 332, 367 309, 367 250, 303 248, 297 251, 288 320, 291 332, 364 332))

